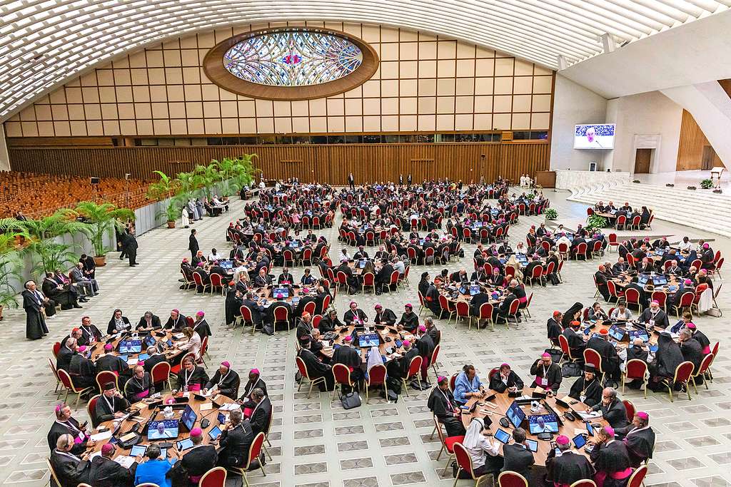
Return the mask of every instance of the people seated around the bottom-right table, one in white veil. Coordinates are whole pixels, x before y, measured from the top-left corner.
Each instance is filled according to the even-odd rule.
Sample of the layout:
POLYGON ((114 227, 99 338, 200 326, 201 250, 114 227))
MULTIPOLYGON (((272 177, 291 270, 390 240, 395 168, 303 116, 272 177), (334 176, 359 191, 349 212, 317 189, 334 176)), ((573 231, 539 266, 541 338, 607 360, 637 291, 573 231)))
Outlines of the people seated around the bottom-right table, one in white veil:
MULTIPOLYGON (((535 376, 531 388, 540 386, 549 396, 558 394, 561 368, 549 353, 538 358, 530 372, 535 376)), ((523 380, 510 364, 501 364, 494 369, 487 384, 482 383, 471 364, 452 378, 453 390, 447 377, 439 377, 427 406, 444 426, 447 437, 460 442, 468 451, 474 478, 510 471, 523 475, 530 486, 568 487, 586 479, 596 481, 597 485, 618 487, 626 485, 633 469, 652 456, 655 433, 649 426, 648 413, 640 411, 629 422, 626 407, 618 399, 616 390, 599 385, 592 367, 587 367, 583 377, 572 385, 568 397, 586 404, 586 413, 601 412, 609 424, 588 439, 593 447, 588 458, 572 450, 569 437, 559 434, 556 437, 558 452, 552 448, 548 454, 545 475, 533 468, 534 454, 526 442, 528 433, 525 429, 512 430, 512 442, 503 446, 500 456, 500 443, 493 440, 491 434, 485 434, 492 423, 490 415, 471 414, 469 422, 463 421, 463 414, 470 413, 461 407, 468 402, 485 399, 492 393, 519 394, 523 390, 523 380)), ((471 478, 469 472, 462 472, 462 475, 471 478)))

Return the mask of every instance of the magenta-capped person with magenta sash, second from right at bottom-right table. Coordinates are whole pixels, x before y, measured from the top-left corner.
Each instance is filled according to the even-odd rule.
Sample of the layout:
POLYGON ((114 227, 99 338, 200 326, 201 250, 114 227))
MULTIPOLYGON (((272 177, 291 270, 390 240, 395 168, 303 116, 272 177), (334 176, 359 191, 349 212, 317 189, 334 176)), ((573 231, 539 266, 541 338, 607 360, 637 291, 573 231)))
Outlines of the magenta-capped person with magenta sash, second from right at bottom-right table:
POLYGON ((595 446, 589 453, 589 459, 594 464, 596 473, 594 482, 603 487, 624 487, 627 478, 632 475, 632 463, 629 453, 623 442, 614 439, 614 429, 604 426, 599 429, 596 440, 591 440, 595 446))

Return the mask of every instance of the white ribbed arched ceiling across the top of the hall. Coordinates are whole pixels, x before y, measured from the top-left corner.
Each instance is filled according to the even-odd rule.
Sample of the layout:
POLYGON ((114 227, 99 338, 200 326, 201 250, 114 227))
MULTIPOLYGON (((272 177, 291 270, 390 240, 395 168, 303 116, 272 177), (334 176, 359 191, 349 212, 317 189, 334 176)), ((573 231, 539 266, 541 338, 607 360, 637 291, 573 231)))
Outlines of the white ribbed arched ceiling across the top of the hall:
POLYGON ((731 7, 731 0, 0 0, 0 120, 152 42, 284 20, 429 31, 556 68, 731 7))

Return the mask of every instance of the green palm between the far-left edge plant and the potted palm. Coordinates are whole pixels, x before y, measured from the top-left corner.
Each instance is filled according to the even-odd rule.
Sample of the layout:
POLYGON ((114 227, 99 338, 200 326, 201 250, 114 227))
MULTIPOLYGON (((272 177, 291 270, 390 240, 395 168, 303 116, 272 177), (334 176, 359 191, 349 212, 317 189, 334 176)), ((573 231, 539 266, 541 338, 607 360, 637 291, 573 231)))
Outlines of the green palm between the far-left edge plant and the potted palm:
POLYGON ((29 244, 23 253, 31 256, 32 272, 44 272, 60 269, 77 258, 74 250, 78 245, 67 245, 54 242, 53 239, 64 234, 84 234, 91 236, 86 223, 69 219, 64 214, 67 210, 58 210, 53 215, 39 220, 19 221, 20 229, 25 231, 29 244))

